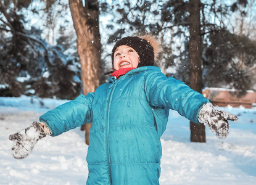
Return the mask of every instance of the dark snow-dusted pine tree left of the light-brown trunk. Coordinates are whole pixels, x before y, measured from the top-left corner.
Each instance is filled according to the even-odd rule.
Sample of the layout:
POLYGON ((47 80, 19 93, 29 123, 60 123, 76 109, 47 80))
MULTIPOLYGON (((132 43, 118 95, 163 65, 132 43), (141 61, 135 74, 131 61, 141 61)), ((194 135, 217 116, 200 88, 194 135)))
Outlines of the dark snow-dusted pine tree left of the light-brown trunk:
MULTIPOLYGON (((81 89, 79 61, 77 57, 69 57, 70 53, 69 56, 64 54, 65 49, 61 45, 49 46, 42 38, 42 31, 39 28, 25 28, 25 25, 28 25, 26 15, 38 15, 40 11, 28 8, 31 2, 0 2, 0 42, 3 46, 0 83, 7 86, 0 94, 75 98, 81 89)), ((47 3, 46 7, 50 1, 47 3)), ((67 43, 65 42, 65 47, 72 44, 68 46, 67 43)), ((76 50, 74 51, 76 53, 76 50)))

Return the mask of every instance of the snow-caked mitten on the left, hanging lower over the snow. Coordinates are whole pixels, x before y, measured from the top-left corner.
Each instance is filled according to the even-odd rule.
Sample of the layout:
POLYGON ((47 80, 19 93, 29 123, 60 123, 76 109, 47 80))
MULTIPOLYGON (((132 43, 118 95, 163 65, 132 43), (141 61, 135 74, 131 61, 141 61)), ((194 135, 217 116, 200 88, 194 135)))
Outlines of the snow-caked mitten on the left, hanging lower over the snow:
POLYGON ((10 135, 10 141, 14 141, 14 146, 11 150, 12 156, 17 159, 27 157, 31 153, 36 142, 45 136, 46 134, 44 133, 43 127, 36 121, 34 121, 28 128, 10 135))

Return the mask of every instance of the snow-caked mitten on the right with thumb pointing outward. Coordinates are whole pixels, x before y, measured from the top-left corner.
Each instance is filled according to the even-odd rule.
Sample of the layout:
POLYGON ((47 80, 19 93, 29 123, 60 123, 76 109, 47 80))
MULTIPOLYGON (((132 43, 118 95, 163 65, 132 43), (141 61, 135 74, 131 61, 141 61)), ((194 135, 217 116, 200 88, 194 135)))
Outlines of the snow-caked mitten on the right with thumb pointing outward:
POLYGON ((219 139, 225 139, 228 136, 228 120, 236 121, 237 116, 223 110, 214 109, 211 103, 204 104, 199 111, 198 120, 204 125, 208 125, 210 130, 217 135, 219 139))

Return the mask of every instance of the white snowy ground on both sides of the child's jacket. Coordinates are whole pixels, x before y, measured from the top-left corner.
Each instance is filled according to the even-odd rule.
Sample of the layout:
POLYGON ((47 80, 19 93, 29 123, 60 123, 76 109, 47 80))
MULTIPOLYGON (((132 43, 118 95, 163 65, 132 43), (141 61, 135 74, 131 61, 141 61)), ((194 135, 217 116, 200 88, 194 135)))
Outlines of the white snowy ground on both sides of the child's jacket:
MULTIPOLYGON (((64 102, 0 97, 0 184, 85 184, 88 147, 79 128, 55 138, 47 136, 23 160, 10 155, 9 134, 64 102)), ((161 140, 161 185, 256 184, 256 110, 225 110, 239 117, 230 123, 228 138, 219 140, 207 128, 207 143, 203 144, 189 142, 189 121, 170 112, 161 140)))

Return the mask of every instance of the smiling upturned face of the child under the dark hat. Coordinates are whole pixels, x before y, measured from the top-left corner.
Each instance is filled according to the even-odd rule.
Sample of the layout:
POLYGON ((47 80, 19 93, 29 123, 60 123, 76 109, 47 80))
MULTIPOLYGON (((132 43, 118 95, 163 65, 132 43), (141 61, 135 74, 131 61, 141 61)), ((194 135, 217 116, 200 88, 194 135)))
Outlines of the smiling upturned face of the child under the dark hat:
POLYGON ((138 67, 139 55, 130 46, 122 45, 117 47, 114 52, 114 68, 138 67))

